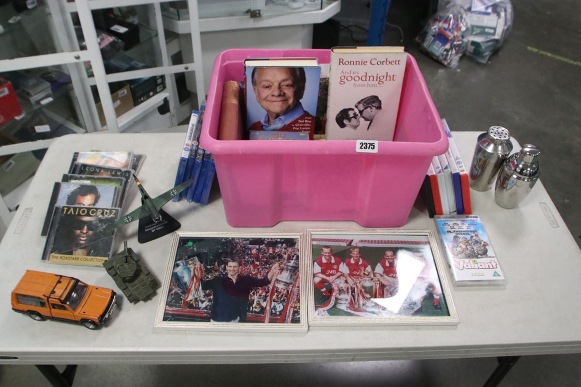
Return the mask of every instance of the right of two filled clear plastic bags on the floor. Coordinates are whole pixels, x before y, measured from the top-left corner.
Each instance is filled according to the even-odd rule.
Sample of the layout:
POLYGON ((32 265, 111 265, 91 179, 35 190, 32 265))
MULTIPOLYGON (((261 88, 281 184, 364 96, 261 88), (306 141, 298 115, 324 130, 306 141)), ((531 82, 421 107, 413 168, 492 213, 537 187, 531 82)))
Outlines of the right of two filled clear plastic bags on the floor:
POLYGON ((480 63, 488 62, 490 55, 503 45, 512 29, 513 18, 510 0, 472 0, 466 55, 480 63))

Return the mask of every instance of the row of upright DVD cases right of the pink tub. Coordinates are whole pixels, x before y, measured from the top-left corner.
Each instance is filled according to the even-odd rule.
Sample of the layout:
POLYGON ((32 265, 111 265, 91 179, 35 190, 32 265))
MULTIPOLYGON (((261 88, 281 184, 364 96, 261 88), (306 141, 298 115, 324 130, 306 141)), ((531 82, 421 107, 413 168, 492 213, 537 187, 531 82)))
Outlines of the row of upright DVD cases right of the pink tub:
POLYGON ((421 192, 428 214, 430 218, 434 215, 472 214, 468 171, 445 118, 442 118, 442 125, 450 145, 446 153, 432 159, 426 172, 421 192))

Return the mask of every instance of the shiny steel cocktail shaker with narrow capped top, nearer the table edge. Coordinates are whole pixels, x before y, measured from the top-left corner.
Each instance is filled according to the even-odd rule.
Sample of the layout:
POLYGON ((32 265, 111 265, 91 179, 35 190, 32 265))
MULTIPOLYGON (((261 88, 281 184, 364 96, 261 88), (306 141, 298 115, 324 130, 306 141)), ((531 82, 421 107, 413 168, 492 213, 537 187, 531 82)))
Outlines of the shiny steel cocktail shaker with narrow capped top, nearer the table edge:
POLYGON ((511 155, 498 173, 494 200, 504 208, 515 208, 529 194, 539 180, 539 148, 523 145, 519 153, 511 155))

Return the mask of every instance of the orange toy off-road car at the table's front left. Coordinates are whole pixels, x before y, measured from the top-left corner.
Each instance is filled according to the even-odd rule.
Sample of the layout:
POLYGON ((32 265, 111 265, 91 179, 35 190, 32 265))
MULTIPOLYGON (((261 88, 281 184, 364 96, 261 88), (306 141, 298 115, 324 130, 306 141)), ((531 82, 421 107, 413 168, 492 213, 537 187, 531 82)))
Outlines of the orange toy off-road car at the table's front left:
POLYGON ((97 329, 115 310, 115 292, 73 277, 26 270, 12 291, 12 310, 31 319, 53 319, 97 329))

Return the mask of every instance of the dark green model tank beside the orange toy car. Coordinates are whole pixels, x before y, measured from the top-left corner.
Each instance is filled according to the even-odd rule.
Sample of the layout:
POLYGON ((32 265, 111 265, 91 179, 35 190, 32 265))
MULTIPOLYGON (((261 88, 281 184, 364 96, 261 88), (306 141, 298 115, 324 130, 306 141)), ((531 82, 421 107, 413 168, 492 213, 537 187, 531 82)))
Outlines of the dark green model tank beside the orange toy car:
POLYGON ((127 248, 127 241, 123 241, 123 251, 103 262, 103 266, 129 302, 146 301, 158 287, 157 280, 145 263, 132 249, 127 248))

